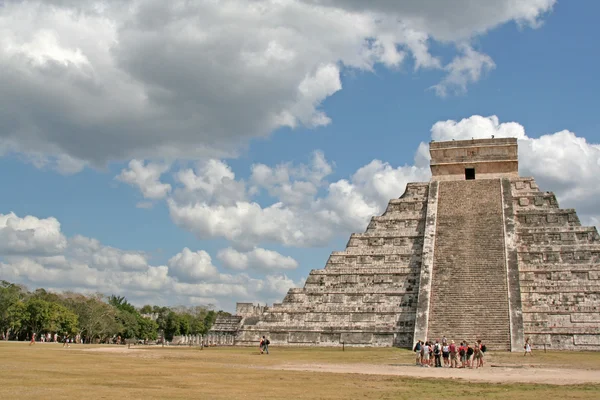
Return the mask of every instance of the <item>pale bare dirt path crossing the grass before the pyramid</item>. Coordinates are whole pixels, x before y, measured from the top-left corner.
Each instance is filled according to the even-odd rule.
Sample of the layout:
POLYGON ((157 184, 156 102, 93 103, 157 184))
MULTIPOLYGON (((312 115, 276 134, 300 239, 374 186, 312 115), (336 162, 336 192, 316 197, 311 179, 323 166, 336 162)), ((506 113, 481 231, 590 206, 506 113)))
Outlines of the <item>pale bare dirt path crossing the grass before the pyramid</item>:
POLYGON ((331 372, 340 374, 368 374, 412 376, 427 378, 466 379, 493 383, 539 383, 575 385, 600 383, 598 371, 563 368, 531 368, 499 366, 480 369, 422 368, 407 365, 370 364, 284 364, 270 367, 275 370, 331 372))

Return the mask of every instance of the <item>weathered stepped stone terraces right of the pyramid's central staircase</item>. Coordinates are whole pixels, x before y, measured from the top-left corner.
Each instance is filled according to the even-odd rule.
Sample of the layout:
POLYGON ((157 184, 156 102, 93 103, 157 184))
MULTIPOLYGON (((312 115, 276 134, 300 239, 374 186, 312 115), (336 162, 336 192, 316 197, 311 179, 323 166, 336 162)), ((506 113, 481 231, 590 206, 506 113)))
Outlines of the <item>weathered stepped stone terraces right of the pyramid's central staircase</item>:
POLYGON ((600 350, 600 236, 533 178, 512 180, 525 337, 600 350))

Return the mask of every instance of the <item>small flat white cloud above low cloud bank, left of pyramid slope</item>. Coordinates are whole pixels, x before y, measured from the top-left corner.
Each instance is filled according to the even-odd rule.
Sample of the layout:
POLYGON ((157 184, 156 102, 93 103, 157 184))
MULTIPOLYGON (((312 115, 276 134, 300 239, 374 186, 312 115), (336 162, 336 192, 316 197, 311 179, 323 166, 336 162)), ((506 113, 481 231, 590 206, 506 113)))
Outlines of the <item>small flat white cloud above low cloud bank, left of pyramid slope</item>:
POLYGON ((247 252, 240 252, 232 247, 228 247, 219 250, 217 258, 226 268, 239 271, 249 268, 258 271, 277 271, 296 269, 298 267, 298 262, 292 257, 260 247, 247 252))

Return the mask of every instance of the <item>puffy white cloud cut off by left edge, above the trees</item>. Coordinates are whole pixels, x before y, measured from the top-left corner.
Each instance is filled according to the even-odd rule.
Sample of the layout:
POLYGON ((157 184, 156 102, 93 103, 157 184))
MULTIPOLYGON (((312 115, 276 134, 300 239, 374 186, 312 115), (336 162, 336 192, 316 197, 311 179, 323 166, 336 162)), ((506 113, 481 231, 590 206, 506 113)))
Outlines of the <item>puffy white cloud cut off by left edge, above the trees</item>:
POLYGON ((56 218, 0 214, 0 255, 53 255, 65 250, 67 239, 56 218))

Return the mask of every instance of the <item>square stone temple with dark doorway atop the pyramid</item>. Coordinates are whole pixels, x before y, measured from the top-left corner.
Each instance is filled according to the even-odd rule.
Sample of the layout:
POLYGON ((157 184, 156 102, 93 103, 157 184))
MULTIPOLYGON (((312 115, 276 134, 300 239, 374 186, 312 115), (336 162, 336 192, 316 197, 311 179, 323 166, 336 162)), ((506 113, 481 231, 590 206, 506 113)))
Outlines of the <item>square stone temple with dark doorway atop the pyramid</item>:
POLYGON ((517 139, 471 139, 429 143, 431 180, 517 178, 517 139))

